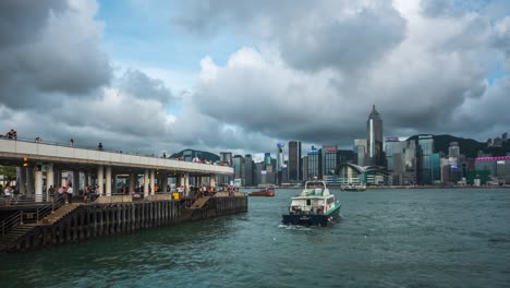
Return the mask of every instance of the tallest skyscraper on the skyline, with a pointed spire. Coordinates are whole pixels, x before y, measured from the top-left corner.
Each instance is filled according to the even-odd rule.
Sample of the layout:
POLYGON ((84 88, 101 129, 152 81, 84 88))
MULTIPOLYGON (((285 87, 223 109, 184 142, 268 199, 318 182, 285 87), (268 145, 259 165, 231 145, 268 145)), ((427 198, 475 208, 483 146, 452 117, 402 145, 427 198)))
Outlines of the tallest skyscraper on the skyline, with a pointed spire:
POLYGON ((382 119, 379 112, 372 106, 372 112, 366 121, 367 131, 367 157, 369 165, 384 166, 382 158, 382 119))

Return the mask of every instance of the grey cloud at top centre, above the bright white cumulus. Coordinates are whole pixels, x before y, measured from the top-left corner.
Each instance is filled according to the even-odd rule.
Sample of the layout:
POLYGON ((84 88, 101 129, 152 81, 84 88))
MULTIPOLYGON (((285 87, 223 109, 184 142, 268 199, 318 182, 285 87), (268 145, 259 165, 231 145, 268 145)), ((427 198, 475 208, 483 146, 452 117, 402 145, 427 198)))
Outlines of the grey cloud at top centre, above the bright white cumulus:
POLYGON ((236 27, 276 45, 281 58, 300 70, 365 68, 396 47, 405 21, 388 1, 192 1, 175 22, 187 31, 215 33, 236 27))

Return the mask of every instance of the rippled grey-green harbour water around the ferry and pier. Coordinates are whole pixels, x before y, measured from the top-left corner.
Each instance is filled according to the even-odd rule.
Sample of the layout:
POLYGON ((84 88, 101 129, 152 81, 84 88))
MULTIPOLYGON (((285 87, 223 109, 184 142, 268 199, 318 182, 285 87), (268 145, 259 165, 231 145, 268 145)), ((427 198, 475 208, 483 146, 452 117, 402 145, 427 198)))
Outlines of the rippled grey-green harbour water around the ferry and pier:
POLYGON ((248 213, 0 255, 0 287, 508 287, 510 190, 331 190, 332 227, 248 213))

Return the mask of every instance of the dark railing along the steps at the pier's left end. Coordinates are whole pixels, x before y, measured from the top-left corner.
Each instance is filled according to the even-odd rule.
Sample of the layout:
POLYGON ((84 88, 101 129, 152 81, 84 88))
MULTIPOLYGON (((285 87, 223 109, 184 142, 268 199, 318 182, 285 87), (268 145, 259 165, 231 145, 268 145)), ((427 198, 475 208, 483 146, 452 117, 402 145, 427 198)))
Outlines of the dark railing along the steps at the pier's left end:
POLYGON ((65 195, 59 195, 58 197, 53 197, 47 205, 14 213, 1 223, 2 236, 20 225, 39 223, 44 217, 63 206, 64 203, 65 195))

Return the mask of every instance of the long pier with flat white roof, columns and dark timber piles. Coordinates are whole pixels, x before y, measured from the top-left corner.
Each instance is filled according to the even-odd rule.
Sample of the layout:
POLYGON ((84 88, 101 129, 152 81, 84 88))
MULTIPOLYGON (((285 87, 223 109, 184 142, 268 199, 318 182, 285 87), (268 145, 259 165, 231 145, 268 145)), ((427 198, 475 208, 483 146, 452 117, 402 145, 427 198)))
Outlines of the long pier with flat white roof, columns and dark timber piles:
POLYGON ((186 189, 184 193, 166 193, 169 178, 186 188, 190 179, 195 185, 205 180, 215 187, 217 176, 233 173, 231 167, 5 139, 0 139, 0 161, 20 167, 23 195, 20 202, 11 200, 0 206, 0 252, 247 212, 247 197, 240 192, 204 195, 186 189), (72 173, 74 195, 81 187, 97 184, 98 197, 92 203, 74 197, 65 204, 63 196, 44 193, 44 185, 62 182, 62 171, 72 173), (116 190, 116 176, 121 175, 130 179, 125 194, 116 190), (141 175, 143 194, 134 197, 134 182, 141 175), (156 187, 163 189, 156 191, 156 187))

